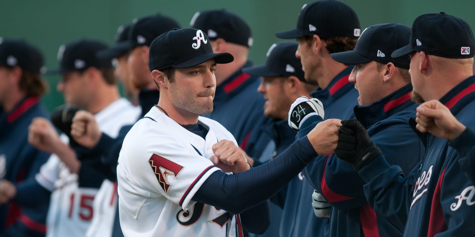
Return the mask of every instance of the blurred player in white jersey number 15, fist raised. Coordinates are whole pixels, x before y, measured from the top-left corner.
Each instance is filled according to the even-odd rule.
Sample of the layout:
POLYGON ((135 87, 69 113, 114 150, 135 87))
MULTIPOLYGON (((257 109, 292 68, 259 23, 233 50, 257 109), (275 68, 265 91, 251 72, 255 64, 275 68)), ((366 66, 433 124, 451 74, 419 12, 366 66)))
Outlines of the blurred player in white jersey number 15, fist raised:
MULTIPOLYGON (((135 120, 139 111, 128 100, 120 98, 111 61, 97 58, 97 52, 104 48, 103 43, 89 39, 61 46, 57 72, 62 73, 63 78, 57 89, 63 92, 66 103, 94 113, 100 128, 115 137, 119 128, 135 120)), ((51 192, 47 236, 84 236, 97 211, 92 205, 97 188, 78 186, 81 177, 77 173, 89 157, 71 149, 63 143, 65 140, 67 137, 62 136, 60 140, 53 126, 44 119, 35 118, 29 127, 28 141, 38 149, 54 153, 41 166, 35 180, 37 186, 51 192)), ((97 184, 85 186, 97 187, 97 184)), ((17 195, 31 195, 31 190, 18 187, 17 195)), ((111 206, 117 201, 114 195, 115 192, 109 194, 111 206)))

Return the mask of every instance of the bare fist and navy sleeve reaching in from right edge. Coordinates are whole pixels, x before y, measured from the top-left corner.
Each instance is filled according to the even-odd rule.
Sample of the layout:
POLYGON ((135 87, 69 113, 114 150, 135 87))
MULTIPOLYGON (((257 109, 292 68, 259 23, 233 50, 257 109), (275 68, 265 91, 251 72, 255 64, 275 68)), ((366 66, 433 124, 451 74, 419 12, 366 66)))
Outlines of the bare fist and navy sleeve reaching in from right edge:
POLYGON ((422 132, 449 140, 448 145, 458 152, 458 163, 465 175, 475 183, 475 133, 460 123, 438 100, 422 103, 417 109, 416 128, 422 132))

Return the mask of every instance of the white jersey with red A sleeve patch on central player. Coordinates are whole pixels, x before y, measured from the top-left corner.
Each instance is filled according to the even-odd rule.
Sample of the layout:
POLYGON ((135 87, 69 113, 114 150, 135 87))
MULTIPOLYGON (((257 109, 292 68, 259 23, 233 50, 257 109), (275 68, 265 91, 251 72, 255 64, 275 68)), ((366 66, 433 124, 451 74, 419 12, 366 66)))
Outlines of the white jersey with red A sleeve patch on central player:
POLYGON ((125 237, 233 237, 239 215, 191 198, 213 172, 211 146, 231 133, 199 117, 206 139, 153 107, 125 137, 117 165, 120 224, 125 237))

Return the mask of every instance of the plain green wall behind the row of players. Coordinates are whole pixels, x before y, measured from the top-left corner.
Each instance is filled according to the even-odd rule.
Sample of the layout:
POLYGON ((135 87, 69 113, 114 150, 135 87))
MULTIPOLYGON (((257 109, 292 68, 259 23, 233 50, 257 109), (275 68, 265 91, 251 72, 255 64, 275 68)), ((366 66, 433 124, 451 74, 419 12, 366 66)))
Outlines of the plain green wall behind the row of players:
MULTIPOLYGON (((474 0, 343 0, 357 12, 361 29, 380 23, 412 25, 418 15, 445 11, 475 28, 474 0)), ((262 64, 269 46, 281 41, 277 31, 294 28, 306 0, 16 0, 0 3, 0 36, 24 38, 38 46, 47 68, 57 67, 61 44, 96 38, 112 45, 117 27, 156 12, 190 26, 196 11, 225 8, 244 18, 253 31, 250 58, 262 64)), ((48 110, 64 103, 56 91, 59 76, 45 76, 50 90, 43 98, 48 110)))

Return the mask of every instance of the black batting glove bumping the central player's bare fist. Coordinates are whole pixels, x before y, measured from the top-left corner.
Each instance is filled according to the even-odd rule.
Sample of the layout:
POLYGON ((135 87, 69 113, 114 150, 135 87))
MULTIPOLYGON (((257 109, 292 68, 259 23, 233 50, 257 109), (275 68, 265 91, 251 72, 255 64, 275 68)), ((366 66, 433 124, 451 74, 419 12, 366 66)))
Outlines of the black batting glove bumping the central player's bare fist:
POLYGON ((356 119, 342 120, 338 139, 335 155, 353 164, 356 172, 381 154, 380 148, 374 145, 364 126, 356 119))

